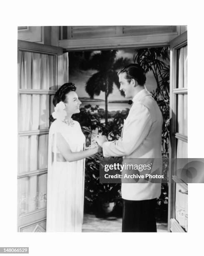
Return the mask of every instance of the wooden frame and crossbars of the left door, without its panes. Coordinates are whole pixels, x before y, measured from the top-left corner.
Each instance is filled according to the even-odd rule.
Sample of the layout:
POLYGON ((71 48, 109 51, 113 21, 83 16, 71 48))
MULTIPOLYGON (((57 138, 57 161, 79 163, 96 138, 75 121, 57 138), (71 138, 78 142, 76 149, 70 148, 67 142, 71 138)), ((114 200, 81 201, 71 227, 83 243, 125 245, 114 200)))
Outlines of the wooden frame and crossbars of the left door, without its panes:
MULTIPOLYGON (((18 63, 18 163, 17 163, 17 179, 23 177, 30 177, 32 175, 37 174, 45 174, 47 173, 47 169, 35 170, 34 172, 26 172, 19 174, 20 170, 20 136, 30 135, 31 133, 34 135, 39 134, 48 134, 49 129, 44 130, 36 130, 36 131, 22 131, 20 132, 20 125, 19 125, 19 118, 20 118, 20 94, 46 94, 46 95, 53 95, 59 86, 62 85, 63 81, 63 51, 62 48, 58 46, 50 46, 44 45, 39 43, 33 43, 29 41, 17 41, 17 54, 18 54, 18 61, 19 61, 19 51, 32 51, 36 53, 44 53, 44 54, 55 54, 54 61, 56 72, 54 74, 54 81, 56 84, 55 90, 32 90, 32 89, 20 89, 20 76, 19 76, 19 63, 18 63)), ((22 216, 19 215, 19 182, 17 186, 17 231, 21 232, 24 228, 37 225, 37 223, 44 222, 46 220, 46 212, 47 208, 42 208, 39 210, 34 210, 28 213, 23 214, 22 216), (36 218, 34 218, 36 217, 36 218), (34 221, 33 221, 34 220, 34 221), (29 223, 29 224, 28 224, 29 223)), ((35 230, 43 231, 43 228, 38 225, 36 226, 35 230)))

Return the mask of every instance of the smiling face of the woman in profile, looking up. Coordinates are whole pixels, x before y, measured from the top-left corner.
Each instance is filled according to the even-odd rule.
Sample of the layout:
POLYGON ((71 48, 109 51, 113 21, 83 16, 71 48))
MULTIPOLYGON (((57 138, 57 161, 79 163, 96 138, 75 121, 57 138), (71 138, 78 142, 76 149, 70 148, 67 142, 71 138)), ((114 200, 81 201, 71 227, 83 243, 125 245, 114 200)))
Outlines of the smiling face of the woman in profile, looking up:
POLYGON ((67 93, 67 103, 65 103, 66 111, 70 114, 80 113, 80 102, 78 95, 76 92, 67 93))

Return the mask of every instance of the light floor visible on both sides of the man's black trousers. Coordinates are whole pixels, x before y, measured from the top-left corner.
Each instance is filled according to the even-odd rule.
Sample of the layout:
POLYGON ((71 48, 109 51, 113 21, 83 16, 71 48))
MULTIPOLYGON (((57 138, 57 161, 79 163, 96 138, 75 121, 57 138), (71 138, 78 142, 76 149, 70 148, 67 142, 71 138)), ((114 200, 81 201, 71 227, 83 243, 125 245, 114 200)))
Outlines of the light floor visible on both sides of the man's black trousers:
MULTIPOLYGON (((92 214, 84 215, 82 232, 121 232, 122 218, 97 218, 92 214)), ((167 232, 167 223, 157 223, 157 232, 167 232)))

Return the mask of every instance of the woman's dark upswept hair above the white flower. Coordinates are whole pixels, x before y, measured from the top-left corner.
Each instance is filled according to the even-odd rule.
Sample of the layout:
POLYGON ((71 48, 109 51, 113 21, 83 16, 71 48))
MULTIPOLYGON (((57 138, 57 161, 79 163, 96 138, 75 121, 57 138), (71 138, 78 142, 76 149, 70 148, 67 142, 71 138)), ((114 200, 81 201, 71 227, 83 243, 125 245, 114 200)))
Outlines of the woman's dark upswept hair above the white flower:
MULTIPOLYGON (((53 105, 56 107, 57 103, 59 103, 60 101, 65 102, 67 93, 72 92, 72 91, 75 92, 76 89, 77 88, 75 87, 75 84, 73 84, 73 83, 63 84, 55 93, 55 96, 52 100, 53 105)), ((55 119, 52 117, 52 115, 50 115, 49 120, 51 122, 55 121, 55 119)))

